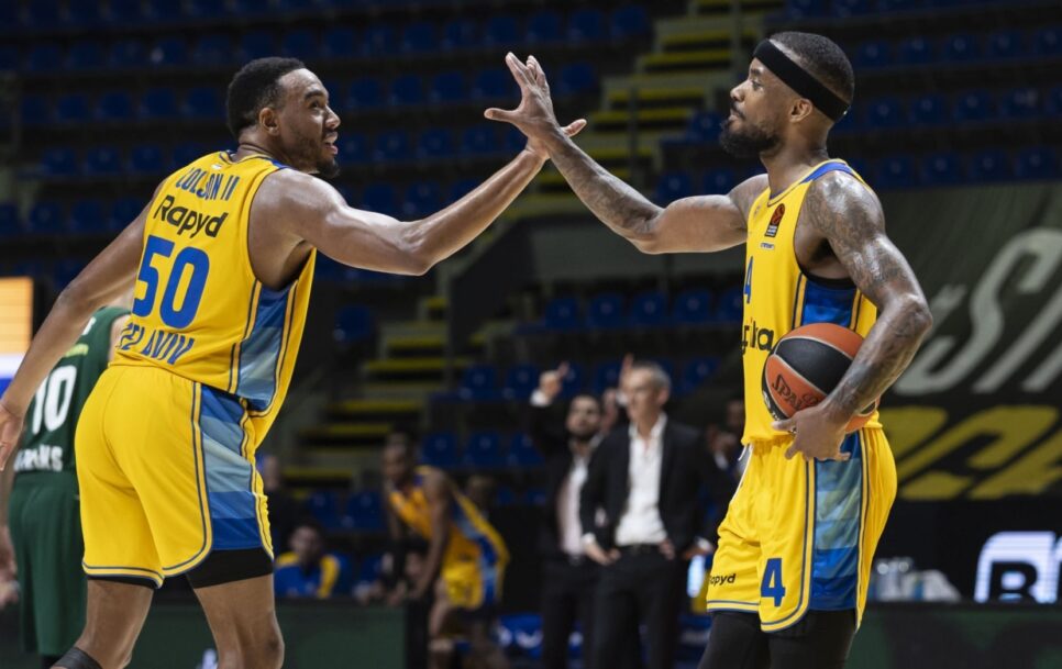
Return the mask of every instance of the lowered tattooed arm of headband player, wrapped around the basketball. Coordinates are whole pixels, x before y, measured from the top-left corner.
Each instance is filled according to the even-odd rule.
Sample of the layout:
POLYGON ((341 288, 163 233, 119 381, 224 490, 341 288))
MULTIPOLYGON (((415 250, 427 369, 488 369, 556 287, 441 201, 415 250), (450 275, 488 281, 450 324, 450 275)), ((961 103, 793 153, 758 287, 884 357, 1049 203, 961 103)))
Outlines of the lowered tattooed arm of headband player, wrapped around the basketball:
POLYGON ((877 306, 877 321, 833 392, 819 405, 775 424, 795 430, 787 457, 797 451, 834 457, 849 420, 907 368, 932 316, 915 272, 885 234, 881 203, 865 186, 836 172, 816 180, 800 223, 821 235, 856 288, 877 306))

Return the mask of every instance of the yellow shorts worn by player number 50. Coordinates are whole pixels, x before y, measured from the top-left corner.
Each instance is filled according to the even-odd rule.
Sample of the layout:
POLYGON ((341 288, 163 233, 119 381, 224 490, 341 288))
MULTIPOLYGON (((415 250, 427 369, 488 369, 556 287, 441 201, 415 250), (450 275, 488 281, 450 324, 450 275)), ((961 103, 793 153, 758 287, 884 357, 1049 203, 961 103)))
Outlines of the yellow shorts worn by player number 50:
POLYGON ((76 436, 85 572, 161 584, 212 550, 272 556, 255 446, 235 397, 163 369, 108 368, 76 436))

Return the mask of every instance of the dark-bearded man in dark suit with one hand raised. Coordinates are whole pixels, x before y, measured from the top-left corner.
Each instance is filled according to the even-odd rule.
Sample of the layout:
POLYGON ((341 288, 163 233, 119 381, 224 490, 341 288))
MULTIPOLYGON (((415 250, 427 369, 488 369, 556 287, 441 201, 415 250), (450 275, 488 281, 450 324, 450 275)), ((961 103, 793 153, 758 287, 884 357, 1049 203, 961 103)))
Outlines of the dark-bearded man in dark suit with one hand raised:
POLYGON ((600 441, 601 404, 594 395, 576 395, 567 414, 554 415, 567 365, 545 371, 531 395, 528 432, 545 460, 545 517, 539 532, 542 554, 542 667, 566 669, 568 637, 578 621, 583 629, 583 666, 589 667, 594 590, 599 566, 583 550, 579 493, 590 454, 600 441))

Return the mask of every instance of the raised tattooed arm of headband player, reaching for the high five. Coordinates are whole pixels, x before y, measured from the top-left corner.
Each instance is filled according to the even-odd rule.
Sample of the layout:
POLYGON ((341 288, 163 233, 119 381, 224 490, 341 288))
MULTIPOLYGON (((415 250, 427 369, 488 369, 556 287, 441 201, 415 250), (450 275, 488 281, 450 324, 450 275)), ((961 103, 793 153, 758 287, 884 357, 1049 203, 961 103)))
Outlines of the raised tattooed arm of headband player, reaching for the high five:
POLYGON ((686 198, 660 208, 609 174, 568 141, 553 113, 550 83, 539 62, 506 56, 522 98, 515 110, 488 109, 486 116, 512 123, 531 141, 545 146, 572 190, 602 223, 644 253, 720 250, 745 239, 749 209, 765 188, 765 176, 753 177, 726 196, 686 198))

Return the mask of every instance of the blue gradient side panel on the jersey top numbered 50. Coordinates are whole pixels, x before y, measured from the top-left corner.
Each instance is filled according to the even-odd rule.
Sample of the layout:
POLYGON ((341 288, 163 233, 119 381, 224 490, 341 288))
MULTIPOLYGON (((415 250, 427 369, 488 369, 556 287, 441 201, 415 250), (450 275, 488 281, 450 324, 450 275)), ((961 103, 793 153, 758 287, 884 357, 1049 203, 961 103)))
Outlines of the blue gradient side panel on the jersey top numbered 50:
POLYGON ((247 399, 253 411, 264 411, 276 393, 289 292, 290 288, 281 291, 262 288, 254 310, 254 327, 240 347, 236 394, 247 399))

